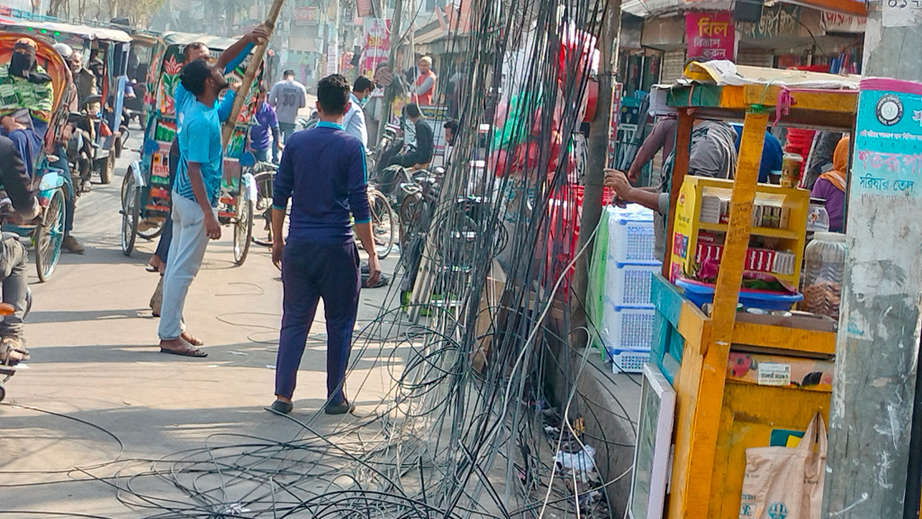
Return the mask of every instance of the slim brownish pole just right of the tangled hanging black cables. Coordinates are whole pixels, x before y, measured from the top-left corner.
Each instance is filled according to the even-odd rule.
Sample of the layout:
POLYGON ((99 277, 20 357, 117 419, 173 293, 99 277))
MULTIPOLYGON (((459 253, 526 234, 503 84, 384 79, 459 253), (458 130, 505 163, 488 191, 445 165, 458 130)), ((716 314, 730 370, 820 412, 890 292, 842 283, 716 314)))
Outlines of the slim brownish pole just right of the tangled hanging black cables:
POLYGON ((576 261, 573 272, 573 298, 570 301, 570 316, 573 330, 570 344, 582 348, 588 344, 585 319, 585 295, 589 285, 589 259, 592 247, 586 247, 589 238, 598 226, 602 215, 602 194, 605 189, 605 168, 609 159, 609 128, 611 127, 612 91, 615 86, 615 71, 618 70, 618 33, 621 31, 621 0, 605 1, 601 36, 598 39, 601 60, 598 71, 598 103, 596 117, 589 127, 587 143, 588 160, 583 191, 583 216, 580 220, 580 234, 576 252, 583 250, 583 258, 576 261))

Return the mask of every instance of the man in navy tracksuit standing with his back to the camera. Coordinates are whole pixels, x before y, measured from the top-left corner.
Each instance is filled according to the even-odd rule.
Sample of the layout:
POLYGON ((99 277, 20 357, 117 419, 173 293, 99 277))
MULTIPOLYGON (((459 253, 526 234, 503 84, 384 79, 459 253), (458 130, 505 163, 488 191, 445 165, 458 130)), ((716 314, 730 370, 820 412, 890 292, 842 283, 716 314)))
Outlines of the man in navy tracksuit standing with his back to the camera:
POLYGON ((326 318, 325 412, 343 415, 352 410, 343 382, 361 288, 353 228, 369 253, 369 286, 377 283, 381 267, 372 240, 365 149, 342 127, 349 93, 349 81, 338 74, 320 80, 317 111, 321 122, 291 136, 275 178, 274 236, 282 236, 291 199, 288 243, 278 239, 272 247, 272 260, 280 265, 285 289, 276 360, 277 400, 272 404, 279 413, 291 411, 298 367, 320 298, 326 318))

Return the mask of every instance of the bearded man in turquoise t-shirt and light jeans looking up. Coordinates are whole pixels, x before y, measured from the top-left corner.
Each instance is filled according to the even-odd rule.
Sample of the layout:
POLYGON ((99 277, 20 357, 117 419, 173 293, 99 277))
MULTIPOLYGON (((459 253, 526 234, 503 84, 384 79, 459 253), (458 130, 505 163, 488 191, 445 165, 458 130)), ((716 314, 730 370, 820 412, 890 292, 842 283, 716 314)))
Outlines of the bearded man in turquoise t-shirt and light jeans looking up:
POLYGON ((183 68, 183 89, 195 96, 179 118, 177 128, 181 160, 171 193, 173 222, 170 261, 163 275, 160 309, 160 351, 182 356, 207 356, 202 342, 185 330, 183 306, 195 279, 208 239, 221 237, 218 199, 224 160, 218 96, 230 85, 221 70, 205 60, 183 68))

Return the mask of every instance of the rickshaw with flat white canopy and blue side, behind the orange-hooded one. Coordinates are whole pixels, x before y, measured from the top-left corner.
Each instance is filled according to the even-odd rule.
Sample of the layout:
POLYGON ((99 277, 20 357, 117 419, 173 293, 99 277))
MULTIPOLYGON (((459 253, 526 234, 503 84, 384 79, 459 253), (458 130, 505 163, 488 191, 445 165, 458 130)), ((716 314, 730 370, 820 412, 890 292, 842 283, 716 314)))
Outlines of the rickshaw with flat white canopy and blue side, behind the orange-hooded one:
MULTIPOLYGON (((87 115, 94 125, 96 136, 96 145, 91 147, 91 160, 92 170, 100 175, 100 182, 112 183, 115 159, 121 154, 126 137, 123 135, 122 108, 131 37, 124 30, 57 22, 0 22, 0 28, 22 32, 34 39, 66 43, 83 53, 84 66, 89 65, 93 56, 100 59, 102 80, 97 84, 97 93, 102 98, 101 112, 87 115)), ((78 103, 85 101, 77 100, 78 103)), ((82 110, 83 106, 79 108, 82 110)))

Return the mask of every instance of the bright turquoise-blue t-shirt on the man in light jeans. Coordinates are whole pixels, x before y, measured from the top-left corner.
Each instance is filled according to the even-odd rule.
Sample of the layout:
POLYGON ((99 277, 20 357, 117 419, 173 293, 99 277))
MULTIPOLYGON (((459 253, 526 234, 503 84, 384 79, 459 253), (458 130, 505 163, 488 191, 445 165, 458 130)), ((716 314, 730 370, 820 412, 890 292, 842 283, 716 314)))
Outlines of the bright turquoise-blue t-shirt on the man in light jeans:
POLYGON ((217 207, 224 162, 218 109, 197 101, 190 103, 179 115, 176 126, 181 159, 176 169, 173 191, 186 199, 195 200, 195 192, 189 180, 189 163, 199 163, 208 200, 212 207, 217 207))

